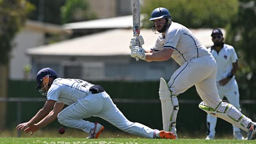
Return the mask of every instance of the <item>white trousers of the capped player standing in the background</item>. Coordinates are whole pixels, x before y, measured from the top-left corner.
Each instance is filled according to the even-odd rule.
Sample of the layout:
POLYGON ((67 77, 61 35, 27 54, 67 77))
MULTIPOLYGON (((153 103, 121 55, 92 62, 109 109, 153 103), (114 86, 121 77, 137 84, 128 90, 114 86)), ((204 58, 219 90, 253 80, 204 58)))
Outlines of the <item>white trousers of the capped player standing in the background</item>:
MULTIPOLYGON (((239 91, 238 91, 238 85, 235 78, 230 79, 228 83, 224 86, 219 85, 219 81, 216 82, 217 89, 219 92, 219 97, 222 100, 224 96, 227 98, 228 102, 234 107, 236 107, 237 110, 241 111, 240 104, 239 104, 239 91)), ((217 123, 217 117, 211 116, 210 114, 207 114, 207 122, 210 123, 208 129, 209 134, 208 135, 215 135, 215 127, 217 123)), ((239 132, 239 127, 236 127, 233 125, 233 132, 239 132)))

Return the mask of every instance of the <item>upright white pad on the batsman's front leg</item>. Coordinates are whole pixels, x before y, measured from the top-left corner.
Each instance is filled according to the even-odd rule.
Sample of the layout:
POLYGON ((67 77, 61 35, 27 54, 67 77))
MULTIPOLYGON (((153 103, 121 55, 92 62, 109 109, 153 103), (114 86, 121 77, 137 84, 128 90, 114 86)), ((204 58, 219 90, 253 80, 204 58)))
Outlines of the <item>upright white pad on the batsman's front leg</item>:
POLYGON ((160 79, 159 98, 161 100, 163 130, 176 134, 176 117, 179 109, 178 98, 171 96, 171 91, 163 78, 160 79))

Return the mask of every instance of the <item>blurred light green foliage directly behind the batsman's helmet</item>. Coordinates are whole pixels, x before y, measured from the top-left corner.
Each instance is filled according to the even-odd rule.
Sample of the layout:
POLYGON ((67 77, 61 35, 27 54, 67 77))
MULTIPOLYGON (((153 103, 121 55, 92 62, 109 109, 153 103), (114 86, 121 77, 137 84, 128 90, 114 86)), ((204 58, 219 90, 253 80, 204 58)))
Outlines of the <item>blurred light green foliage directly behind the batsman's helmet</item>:
POLYGON ((152 11, 157 7, 165 7, 171 13, 174 22, 188 28, 225 27, 230 17, 236 15, 237 0, 147 0, 141 8, 146 14, 145 27, 152 11))

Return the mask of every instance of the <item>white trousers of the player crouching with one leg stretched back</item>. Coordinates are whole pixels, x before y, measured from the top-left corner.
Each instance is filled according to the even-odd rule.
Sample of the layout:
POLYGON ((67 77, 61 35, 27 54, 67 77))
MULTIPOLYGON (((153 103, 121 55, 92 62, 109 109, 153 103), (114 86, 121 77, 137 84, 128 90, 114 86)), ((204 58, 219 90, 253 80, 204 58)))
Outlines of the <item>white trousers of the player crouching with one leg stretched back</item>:
POLYGON ((82 119, 91 116, 103 118, 122 131, 141 137, 153 138, 154 131, 158 131, 137 122, 130 122, 106 92, 85 96, 69 105, 58 114, 58 121, 64 126, 89 133, 94 123, 82 119))

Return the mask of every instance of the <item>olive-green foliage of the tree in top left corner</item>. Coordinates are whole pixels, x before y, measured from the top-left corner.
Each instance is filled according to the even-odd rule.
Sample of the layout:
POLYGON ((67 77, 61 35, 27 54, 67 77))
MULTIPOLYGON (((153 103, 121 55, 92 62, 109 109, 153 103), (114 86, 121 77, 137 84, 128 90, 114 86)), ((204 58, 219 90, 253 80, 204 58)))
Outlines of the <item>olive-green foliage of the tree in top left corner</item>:
POLYGON ((0 0, 0 63, 8 63, 11 41, 33 8, 26 0, 0 0))

